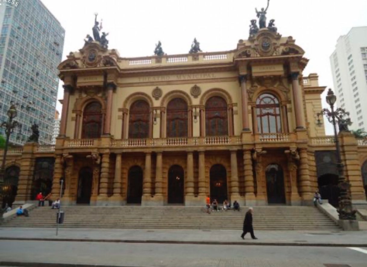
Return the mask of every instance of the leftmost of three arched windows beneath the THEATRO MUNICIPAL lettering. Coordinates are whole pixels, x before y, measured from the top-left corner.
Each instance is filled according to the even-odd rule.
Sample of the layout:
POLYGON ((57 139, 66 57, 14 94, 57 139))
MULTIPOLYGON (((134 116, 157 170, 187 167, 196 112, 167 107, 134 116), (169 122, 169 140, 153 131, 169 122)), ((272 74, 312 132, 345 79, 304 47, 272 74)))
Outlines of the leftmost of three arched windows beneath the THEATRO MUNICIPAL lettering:
POLYGON ((149 137, 149 104, 137 100, 130 106, 129 138, 149 137))

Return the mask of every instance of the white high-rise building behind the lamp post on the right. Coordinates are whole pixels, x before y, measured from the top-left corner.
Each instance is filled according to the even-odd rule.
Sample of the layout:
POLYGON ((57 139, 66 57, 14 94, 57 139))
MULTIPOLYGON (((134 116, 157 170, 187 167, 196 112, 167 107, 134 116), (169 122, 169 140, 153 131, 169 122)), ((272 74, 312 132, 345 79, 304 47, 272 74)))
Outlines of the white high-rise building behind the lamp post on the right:
POLYGON ((330 56, 338 107, 350 112, 350 130, 367 131, 367 26, 339 37, 330 56))

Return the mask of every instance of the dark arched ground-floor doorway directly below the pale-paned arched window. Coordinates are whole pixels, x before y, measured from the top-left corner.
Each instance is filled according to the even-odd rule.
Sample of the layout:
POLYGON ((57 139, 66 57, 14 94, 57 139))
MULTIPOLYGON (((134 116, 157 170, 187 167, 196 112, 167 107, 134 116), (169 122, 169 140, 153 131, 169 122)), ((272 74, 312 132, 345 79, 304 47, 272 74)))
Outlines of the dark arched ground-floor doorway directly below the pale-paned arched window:
POLYGON ((268 204, 286 203, 283 169, 278 164, 270 164, 265 169, 265 176, 268 204))

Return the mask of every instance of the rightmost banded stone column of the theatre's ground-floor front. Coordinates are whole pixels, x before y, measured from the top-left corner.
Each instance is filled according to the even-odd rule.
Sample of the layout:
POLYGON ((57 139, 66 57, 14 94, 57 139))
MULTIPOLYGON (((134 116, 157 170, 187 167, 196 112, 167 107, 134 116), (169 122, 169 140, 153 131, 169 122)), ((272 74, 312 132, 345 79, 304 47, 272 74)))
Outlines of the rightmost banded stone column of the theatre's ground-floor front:
POLYGON ((301 198, 303 205, 312 204, 312 192, 311 192, 311 183, 309 179, 309 166, 308 166, 308 156, 307 149, 301 148, 299 149, 299 183, 301 188, 301 198))

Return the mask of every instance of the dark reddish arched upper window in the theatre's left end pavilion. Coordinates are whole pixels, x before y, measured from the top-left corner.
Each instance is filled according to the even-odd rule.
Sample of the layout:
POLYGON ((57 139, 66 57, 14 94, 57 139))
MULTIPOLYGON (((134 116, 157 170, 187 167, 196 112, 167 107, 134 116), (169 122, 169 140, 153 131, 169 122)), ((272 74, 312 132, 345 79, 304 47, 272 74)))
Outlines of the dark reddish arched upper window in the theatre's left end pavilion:
POLYGON ((83 111, 83 128, 81 138, 99 138, 102 131, 102 106, 99 102, 91 102, 83 111))

